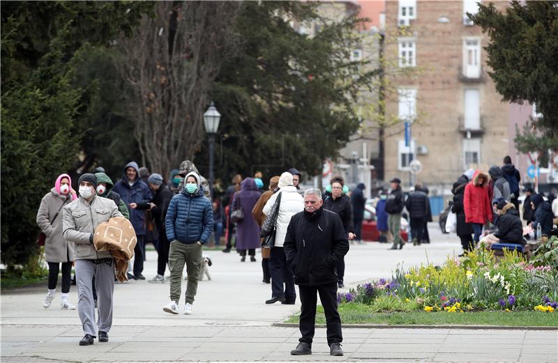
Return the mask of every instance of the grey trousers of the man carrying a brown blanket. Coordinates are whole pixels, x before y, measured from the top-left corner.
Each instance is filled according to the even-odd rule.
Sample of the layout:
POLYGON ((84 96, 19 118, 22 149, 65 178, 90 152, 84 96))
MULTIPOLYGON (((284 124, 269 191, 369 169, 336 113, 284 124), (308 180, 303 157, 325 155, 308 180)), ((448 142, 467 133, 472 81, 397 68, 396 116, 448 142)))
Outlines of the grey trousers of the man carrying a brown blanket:
POLYGON ((112 294, 114 293, 114 263, 96 264, 93 260, 75 261, 75 279, 77 283, 77 312, 82 320, 84 334, 97 336, 98 330, 109 332, 112 327, 112 294), (95 303, 93 302, 93 284, 95 276, 99 320, 95 323, 95 303))

